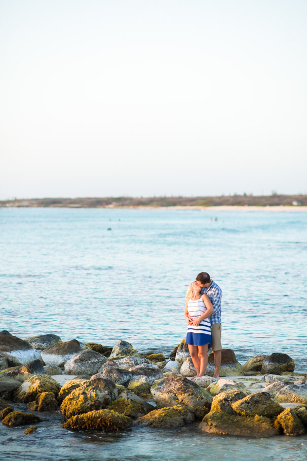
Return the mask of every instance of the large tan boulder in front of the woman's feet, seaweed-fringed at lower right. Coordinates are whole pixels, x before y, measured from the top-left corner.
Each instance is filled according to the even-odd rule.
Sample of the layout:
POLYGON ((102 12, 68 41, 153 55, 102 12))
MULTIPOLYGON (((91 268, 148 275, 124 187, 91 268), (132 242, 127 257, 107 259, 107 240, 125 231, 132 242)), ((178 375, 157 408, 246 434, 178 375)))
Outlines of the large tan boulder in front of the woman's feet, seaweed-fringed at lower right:
POLYGON ((212 397, 209 392, 200 388, 195 382, 184 376, 169 376, 151 386, 153 400, 158 408, 175 406, 182 403, 187 406, 195 416, 201 419, 211 407, 212 397))

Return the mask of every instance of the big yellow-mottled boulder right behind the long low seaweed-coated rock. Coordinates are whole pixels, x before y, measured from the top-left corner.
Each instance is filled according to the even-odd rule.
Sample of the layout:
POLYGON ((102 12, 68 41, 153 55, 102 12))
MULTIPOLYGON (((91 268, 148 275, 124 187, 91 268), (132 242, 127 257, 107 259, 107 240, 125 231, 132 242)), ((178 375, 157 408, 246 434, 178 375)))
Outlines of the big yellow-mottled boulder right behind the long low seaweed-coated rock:
POLYGON ((61 410, 66 419, 89 410, 106 408, 118 397, 117 386, 109 379, 94 375, 90 381, 74 389, 61 404, 61 410))

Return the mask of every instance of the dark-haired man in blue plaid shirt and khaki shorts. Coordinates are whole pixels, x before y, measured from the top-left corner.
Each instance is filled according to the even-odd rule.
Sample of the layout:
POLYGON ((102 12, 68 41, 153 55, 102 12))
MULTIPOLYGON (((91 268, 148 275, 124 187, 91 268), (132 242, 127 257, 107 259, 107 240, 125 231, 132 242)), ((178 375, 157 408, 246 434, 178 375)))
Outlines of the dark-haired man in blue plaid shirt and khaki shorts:
POLYGON ((207 294, 213 305, 213 314, 209 317, 211 323, 211 348, 214 354, 214 375, 218 379, 219 367, 221 365, 221 300, 222 290, 220 287, 211 280, 207 272, 201 272, 196 277, 197 282, 202 287, 202 294, 207 294))

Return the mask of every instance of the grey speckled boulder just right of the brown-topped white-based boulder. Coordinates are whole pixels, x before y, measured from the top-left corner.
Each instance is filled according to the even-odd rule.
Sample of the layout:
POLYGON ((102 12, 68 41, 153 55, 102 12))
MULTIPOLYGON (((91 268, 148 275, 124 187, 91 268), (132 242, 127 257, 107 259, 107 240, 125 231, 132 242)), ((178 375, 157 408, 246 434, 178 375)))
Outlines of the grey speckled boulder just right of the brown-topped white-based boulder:
POLYGON ((88 349, 79 354, 74 355, 64 365, 64 373, 66 374, 87 374, 92 376, 98 373, 99 368, 107 359, 99 354, 99 352, 88 349))

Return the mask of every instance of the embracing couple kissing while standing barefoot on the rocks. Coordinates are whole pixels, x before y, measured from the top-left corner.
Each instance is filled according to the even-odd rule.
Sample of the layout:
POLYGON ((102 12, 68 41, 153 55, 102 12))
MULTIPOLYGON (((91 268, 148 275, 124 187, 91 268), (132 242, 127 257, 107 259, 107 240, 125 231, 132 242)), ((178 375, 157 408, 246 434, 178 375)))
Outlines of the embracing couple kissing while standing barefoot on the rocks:
POLYGON ((184 317, 187 321, 186 344, 196 368, 195 379, 204 376, 208 365, 208 348, 214 354, 214 377, 218 379, 221 364, 221 299, 222 290, 207 272, 201 272, 185 296, 184 317))

